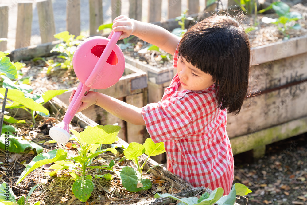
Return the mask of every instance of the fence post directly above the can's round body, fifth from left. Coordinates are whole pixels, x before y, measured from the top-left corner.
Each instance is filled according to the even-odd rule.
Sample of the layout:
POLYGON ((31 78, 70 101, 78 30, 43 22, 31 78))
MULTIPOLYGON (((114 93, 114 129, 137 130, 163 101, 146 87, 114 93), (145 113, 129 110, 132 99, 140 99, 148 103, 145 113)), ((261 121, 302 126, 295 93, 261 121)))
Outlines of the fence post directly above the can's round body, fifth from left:
POLYGON ((103 24, 102 0, 90 0, 90 35, 98 34, 97 29, 101 24, 103 24))

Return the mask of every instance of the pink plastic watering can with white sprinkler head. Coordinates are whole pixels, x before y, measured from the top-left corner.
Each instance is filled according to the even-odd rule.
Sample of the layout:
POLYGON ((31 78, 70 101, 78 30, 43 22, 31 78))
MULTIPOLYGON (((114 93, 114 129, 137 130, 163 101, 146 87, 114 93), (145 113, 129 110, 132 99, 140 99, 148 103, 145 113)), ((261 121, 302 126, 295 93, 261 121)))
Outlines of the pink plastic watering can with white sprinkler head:
POLYGON ((68 125, 81 105, 81 98, 89 89, 106 89, 119 81, 125 70, 125 58, 116 45, 122 32, 111 32, 108 38, 89 37, 78 45, 72 65, 80 83, 59 124, 49 130, 49 135, 59 143, 67 143, 70 134, 68 125))

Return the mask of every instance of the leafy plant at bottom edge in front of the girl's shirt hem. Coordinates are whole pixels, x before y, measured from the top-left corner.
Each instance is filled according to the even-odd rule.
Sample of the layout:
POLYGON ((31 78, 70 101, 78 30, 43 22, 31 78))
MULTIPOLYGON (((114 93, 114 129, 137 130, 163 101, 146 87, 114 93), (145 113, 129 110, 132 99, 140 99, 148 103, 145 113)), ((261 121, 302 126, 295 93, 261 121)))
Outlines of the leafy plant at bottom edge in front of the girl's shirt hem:
POLYGON ((230 193, 223 196, 224 190, 223 188, 216 188, 212 191, 211 194, 207 192, 200 196, 198 199, 197 197, 188 197, 188 198, 179 198, 170 194, 155 194, 155 198, 160 197, 170 197, 175 200, 179 200, 180 203, 178 205, 212 205, 214 203, 218 205, 233 205, 235 203, 236 195, 245 196, 252 191, 248 189, 245 185, 240 183, 235 183, 230 191, 230 193))

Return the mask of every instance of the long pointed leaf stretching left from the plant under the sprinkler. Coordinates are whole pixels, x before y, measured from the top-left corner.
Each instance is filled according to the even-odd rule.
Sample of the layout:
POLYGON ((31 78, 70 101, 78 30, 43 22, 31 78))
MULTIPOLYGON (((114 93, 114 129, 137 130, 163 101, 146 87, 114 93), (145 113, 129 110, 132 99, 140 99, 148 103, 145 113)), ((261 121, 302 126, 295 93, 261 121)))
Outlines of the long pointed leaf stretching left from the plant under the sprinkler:
POLYGON ((41 153, 33 158, 33 160, 27 164, 25 170, 21 173, 19 179, 16 182, 16 185, 21 182, 22 179, 25 178, 31 171, 34 169, 43 166, 45 164, 49 164, 52 162, 66 160, 67 159, 67 152, 64 149, 54 149, 47 153, 41 153))

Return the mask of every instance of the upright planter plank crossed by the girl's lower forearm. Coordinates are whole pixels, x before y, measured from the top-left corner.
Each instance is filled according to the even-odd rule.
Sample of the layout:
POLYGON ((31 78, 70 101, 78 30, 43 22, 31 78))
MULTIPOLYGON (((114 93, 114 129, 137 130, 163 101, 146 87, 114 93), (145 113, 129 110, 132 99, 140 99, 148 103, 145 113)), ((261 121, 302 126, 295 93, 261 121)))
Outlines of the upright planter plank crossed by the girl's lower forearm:
MULTIPOLYGON (((134 105, 138 108, 142 108, 143 104, 143 93, 128 95, 126 97, 126 103, 134 105)), ((137 142, 143 144, 144 140, 144 129, 145 126, 135 125, 127 122, 127 142, 137 142)))

